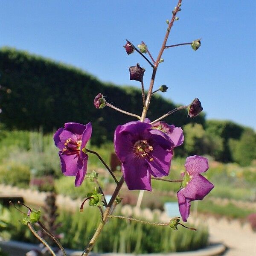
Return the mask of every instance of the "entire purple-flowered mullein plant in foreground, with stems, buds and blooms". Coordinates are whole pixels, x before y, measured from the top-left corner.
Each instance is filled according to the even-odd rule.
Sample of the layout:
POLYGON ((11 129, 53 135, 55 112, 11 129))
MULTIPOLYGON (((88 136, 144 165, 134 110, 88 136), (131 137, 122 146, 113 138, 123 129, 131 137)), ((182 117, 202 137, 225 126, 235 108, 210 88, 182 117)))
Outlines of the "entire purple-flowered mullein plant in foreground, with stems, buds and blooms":
MULTIPOLYGON (((100 157, 100 155, 87 148, 87 142, 93 134, 93 128, 91 123, 79 124, 76 122, 67 122, 64 124, 64 128, 59 128, 54 134, 55 145, 59 149, 59 157, 61 162, 61 171, 66 176, 75 176, 75 186, 81 186, 86 175, 90 177, 90 180, 95 181, 97 188, 88 192, 87 198, 84 200, 89 201, 90 206, 98 207, 99 214, 101 215, 101 222, 96 228, 96 231, 89 244, 85 245, 82 256, 87 256, 93 249, 97 238, 102 232, 106 222, 110 218, 128 219, 130 221, 138 221, 144 224, 152 224, 159 226, 169 226, 174 230, 177 230, 178 225, 186 227, 180 223, 180 217, 172 218, 166 223, 148 222, 140 219, 125 217, 120 215, 113 215, 114 209, 117 204, 120 203, 121 198, 119 192, 126 183, 129 190, 148 190, 151 191, 151 180, 159 180, 159 182, 178 182, 180 183, 180 190, 177 192, 177 201, 179 205, 180 215, 183 221, 187 221, 189 217, 190 202, 194 200, 202 200, 214 187, 201 173, 206 172, 208 169, 208 160, 201 156, 187 157, 184 172, 181 174, 180 179, 170 180, 164 177, 169 175, 172 171, 172 157, 175 147, 180 146, 184 141, 183 130, 175 125, 167 124, 162 121, 166 116, 171 115, 175 111, 181 109, 188 110, 189 118, 193 118, 201 113, 203 110, 199 99, 194 99, 191 104, 180 106, 168 113, 163 114, 156 120, 149 120, 146 115, 150 106, 151 97, 154 93, 166 92, 168 87, 166 85, 160 86, 157 90, 153 90, 154 80, 157 73, 159 64, 163 62, 161 58, 164 50, 171 47, 190 45, 195 51, 200 47, 200 39, 182 44, 168 45, 167 40, 173 24, 179 18, 178 12, 181 11, 181 2, 179 0, 177 6, 172 11, 172 19, 166 20, 166 34, 163 39, 163 44, 160 47, 160 51, 157 58, 154 59, 148 50, 147 45, 141 42, 137 47, 130 41, 126 40, 124 45, 125 51, 128 55, 132 53, 139 53, 151 66, 152 75, 148 86, 148 93, 145 95, 143 75, 145 68, 141 67, 139 63, 129 67, 130 80, 136 80, 141 83, 142 102, 143 109, 140 115, 130 113, 125 110, 119 109, 112 104, 108 103, 102 93, 96 95, 94 99, 94 107, 102 109, 106 106, 113 108, 116 111, 120 111, 124 114, 136 118, 136 121, 131 121, 126 124, 120 124, 116 127, 113 143, 117 157, 122 163, 121 171, 122 177, 118 180, 116 176, 111 172, 111 169, 100 157), (149 56, 147 58, 146 56, 149 56), (96 172, 87 173, 87 162, 90 154, 95 154, 107 171, 113 177, 116 183, 116 188, 111 196, 109 202, 107 202, 103 189, 99 186, 97 181, 98 174, 96 172)), ((93 102, 92 102, 93 104, 93 102)), ((83 204, 81 205, 81 211, 83 210, 83 204)), ((38 223, 42 229, 51 237, 60 248, 63 255, 67 255, 60 241, 47 230, 44 224, 40 221, 40 210, 29 209, 28 213, 24 213, 23 219, 20 221, 26 224, 32 233, 46 246, 50 253, 55 255, 55 252, 49 247, 47 242, 42 239, 38 233, 34 230, 33 224, 38 223)), ((191 227, 186 227, 191 230, 196 230, 191 227)))

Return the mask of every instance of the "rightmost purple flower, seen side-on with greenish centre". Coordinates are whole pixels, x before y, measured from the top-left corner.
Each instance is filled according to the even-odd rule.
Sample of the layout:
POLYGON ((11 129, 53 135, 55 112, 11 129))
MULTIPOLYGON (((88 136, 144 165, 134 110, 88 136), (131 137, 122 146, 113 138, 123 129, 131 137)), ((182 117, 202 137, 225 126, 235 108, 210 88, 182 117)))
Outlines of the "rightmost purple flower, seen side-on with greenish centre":
POLYGON ((190 202, 202 200, 213 188, 200 173, 208 170, 208 160, 205 157, 192 156, 186 159, 186 172, 183 172, 182 189, 177 192, 180 214, 183 221, 189 217, 190 202))

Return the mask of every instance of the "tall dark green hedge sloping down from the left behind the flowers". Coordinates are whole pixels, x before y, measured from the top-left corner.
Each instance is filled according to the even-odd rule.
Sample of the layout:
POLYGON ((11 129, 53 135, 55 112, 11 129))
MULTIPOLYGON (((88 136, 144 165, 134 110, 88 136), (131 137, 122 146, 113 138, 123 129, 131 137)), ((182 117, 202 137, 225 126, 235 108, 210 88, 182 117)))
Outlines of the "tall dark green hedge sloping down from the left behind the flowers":
MULTIPOLYGON (((109 108, 94 108, 96 94, 107 95, 113 105, 133 113, 140 114, 143 107, 140 90, 103 83, 75 67, 8 47, 0 48, 0 59, 0 121, 6 128, 42 127, 48 132, 65 122, 92 122, 92 142, 99 144, 113 140, 116 126, 132 119, 109 108)), ((171 101, 156 95, 148 116, 156 119, 175 107, 171 101)), ((176 126, 188 122, 204 125, 205 119, 204 114, 189 119, 186 111, 178 111, 166 118, 166 122, 176 126)))

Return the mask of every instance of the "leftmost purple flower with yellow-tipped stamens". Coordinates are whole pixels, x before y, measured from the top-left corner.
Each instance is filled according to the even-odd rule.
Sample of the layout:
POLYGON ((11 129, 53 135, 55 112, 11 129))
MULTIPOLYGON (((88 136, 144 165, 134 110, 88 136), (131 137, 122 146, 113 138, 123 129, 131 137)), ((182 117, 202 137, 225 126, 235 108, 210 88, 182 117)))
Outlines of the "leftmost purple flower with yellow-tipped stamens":
POLYGON ((87 171, 88 155, 85 145, 90 140, 92 125, 65 123, 54 134, 55 145, 60 149, 61 171, 66 176, 76 176, 75 186, 80 186, 87 171))

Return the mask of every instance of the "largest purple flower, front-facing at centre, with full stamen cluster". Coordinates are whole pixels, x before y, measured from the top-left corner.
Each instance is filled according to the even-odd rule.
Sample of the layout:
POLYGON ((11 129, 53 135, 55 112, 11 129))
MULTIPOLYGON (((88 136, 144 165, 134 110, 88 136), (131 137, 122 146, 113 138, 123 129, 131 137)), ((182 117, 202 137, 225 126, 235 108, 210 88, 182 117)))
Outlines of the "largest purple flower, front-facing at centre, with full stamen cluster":
POLYGON ((148 123, 137 121, 117 126, 114 146, 128 189, 151 191, 151 175, 169 174, 174 143, 148 123))

